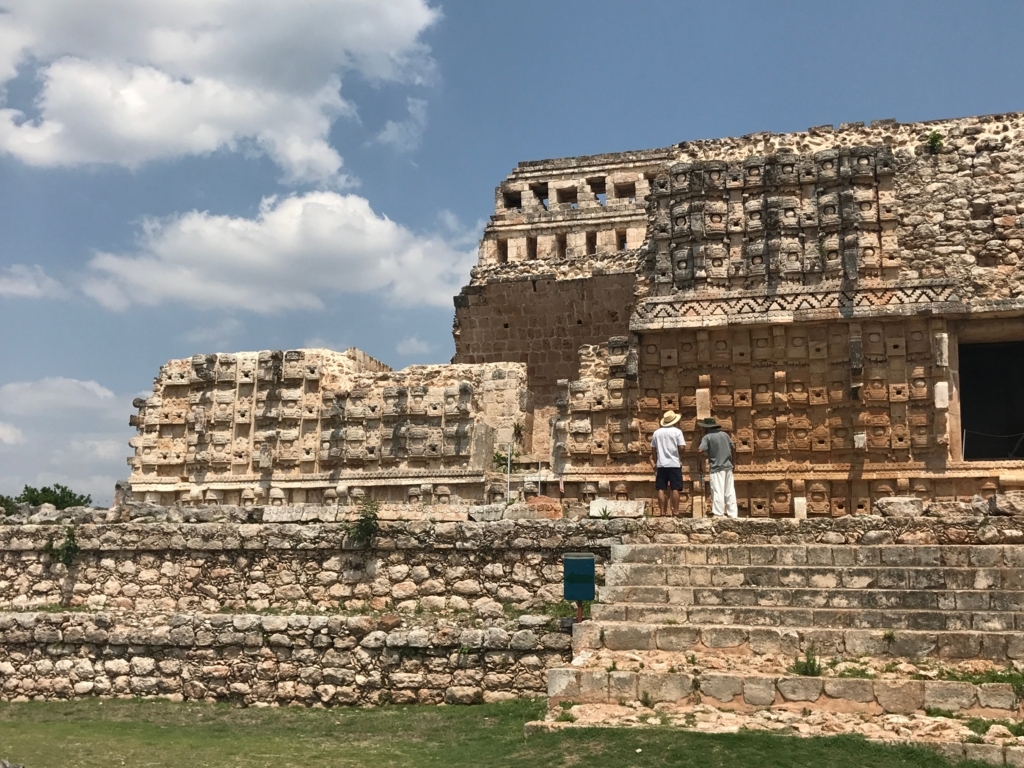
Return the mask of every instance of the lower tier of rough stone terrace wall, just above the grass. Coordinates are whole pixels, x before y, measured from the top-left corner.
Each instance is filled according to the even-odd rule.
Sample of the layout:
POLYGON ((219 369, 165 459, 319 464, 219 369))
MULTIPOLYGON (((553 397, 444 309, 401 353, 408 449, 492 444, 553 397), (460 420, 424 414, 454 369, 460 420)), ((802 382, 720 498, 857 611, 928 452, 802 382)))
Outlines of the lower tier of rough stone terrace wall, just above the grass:
POLYGON ((571 657, 548 616, 0 613, 0 697, 245 705, 474 703, 543 696, 571 657))

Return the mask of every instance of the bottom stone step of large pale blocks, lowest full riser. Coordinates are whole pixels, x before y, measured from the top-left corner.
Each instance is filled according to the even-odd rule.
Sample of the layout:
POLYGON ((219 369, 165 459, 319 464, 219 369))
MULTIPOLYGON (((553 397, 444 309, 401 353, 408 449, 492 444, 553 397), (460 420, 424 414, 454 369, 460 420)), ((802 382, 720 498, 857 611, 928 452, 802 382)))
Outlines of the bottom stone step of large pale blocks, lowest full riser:
POLYGON ((1007 683, 962 683, 944 680, 857 680, 756 674, 644 673, 548 670, 551 703, 615 703, 640 700, 645 706, 700 700, 738 710, 797 706, 806 709, 861 710, 898 715, 926 708, 988 718, 1019 717, 1014 689, 1007 683), (695 695, 697 694, 697 695, 695 695), (699 699, 698 699, 699 696, 699 699))

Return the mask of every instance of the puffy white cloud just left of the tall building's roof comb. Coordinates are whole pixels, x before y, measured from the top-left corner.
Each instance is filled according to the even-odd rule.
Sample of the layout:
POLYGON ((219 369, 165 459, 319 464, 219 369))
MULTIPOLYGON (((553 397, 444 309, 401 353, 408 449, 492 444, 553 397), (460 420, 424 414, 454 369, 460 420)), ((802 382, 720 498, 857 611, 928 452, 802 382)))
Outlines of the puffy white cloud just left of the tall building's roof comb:
POLYGON ((255 218, 191 211, 145 222, 131 254, 99 253, 85 293, 103 306, 183 302, 271 313, 321 309, 346 293, 395 304, 450 306, 471 251, 420 237, 354 195, 267 198, 255 218))

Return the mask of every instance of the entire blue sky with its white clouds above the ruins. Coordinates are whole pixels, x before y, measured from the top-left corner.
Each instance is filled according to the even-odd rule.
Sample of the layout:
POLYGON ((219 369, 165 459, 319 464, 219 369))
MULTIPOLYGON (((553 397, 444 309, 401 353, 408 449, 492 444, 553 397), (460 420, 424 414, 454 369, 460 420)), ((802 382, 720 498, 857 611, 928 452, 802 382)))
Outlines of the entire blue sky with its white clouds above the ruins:
POLYGON ((1024 3, 0 0, 0 493, 196 352, 454 352, 520 160, 1024 109, 1024 3))

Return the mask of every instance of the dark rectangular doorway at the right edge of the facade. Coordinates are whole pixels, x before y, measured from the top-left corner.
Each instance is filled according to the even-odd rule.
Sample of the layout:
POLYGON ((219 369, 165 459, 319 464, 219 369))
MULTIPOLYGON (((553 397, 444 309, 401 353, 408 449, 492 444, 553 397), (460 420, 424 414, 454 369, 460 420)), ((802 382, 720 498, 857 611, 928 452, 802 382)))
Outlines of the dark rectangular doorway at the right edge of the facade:
POLYGON ((961 344, 964 458, 1024 459, 1024 341, 961 344))

